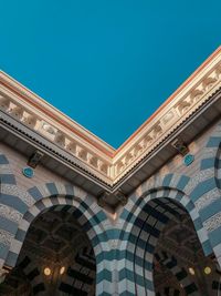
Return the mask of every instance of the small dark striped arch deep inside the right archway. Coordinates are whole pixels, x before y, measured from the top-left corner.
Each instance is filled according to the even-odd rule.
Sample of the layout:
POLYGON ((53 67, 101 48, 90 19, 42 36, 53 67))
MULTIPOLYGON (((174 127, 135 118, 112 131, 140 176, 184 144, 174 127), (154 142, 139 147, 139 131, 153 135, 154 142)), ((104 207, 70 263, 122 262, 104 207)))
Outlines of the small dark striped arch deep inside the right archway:
POLYGON ((175 275, 188 296, 200 295, 197 285, 190 279, 188 272, 183 267, 179 266, 175 256, 171 256, 167 252, 162 251, 155 254, 155 258, 175 275))

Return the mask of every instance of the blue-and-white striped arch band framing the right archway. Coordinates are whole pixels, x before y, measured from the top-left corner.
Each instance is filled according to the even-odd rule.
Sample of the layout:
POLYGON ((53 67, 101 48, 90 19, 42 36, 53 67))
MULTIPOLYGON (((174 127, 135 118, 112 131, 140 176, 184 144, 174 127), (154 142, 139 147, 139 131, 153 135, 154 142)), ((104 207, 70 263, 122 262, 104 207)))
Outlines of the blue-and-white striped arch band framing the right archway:
MULTIPOLYGON (((196 177, 197 178, 197 177, 196 177)), ((198 237, 206 255, 213 252, 208 233, 203 227, 196 203, 191 200, 191 192, 196 188, 196 182, 186 175, 167 174, 162 178, 154 176, 144 182, 130 196, 129 202, 120 214, 122 224, 120 241, 125 241, 130 234, 134 223, 141 213, 146 203, 152 198, 168 197, 181 204, 192 218, 198 237), (190 195, 188 194, 190 193, 190 195)))

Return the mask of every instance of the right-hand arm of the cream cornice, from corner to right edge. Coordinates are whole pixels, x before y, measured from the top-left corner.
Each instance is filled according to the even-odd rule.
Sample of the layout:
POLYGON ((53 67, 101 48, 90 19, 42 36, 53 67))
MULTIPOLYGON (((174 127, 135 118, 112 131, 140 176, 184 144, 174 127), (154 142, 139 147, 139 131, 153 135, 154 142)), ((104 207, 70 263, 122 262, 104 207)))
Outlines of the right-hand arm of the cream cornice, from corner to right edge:
POLYGON ((114 182, 146 157, 178 126, 188 121, 221 88, 221 48, 212 60, 185 83, 186 86, 172 95, 113 159, 114 182))

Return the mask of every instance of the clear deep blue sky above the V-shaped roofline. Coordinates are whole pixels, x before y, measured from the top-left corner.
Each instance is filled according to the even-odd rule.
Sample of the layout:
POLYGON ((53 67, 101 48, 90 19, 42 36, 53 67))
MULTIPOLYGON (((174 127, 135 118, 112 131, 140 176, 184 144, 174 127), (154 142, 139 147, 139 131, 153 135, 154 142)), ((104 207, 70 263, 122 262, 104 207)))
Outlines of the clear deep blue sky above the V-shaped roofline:
POLYGON ((221 1, 0 0, 0 68, 117 147, 221 44, 221 1))

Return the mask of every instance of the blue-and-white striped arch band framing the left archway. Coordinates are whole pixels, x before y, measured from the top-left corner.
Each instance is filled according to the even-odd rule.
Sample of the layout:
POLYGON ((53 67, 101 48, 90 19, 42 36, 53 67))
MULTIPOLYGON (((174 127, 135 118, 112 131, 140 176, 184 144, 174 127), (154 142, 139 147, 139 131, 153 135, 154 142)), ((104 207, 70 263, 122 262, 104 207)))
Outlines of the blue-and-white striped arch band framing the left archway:
POLYGON ((95 198, 88 196, 77 186, 46 183, 30 188, 24 196, 12 196, 8 202, 9 206, 18 211, 22 218, 17 224, 9 221, 13 225, 11 229, 13 239, 9 252, 4 254, 4 265, 15 266, 25 235, 34 218, 49 208, 59 206, 63 211, 73 213, 87 234, 96 257, 98 290, 101 294, 103 293, 103 279, 99 276, 105 269, 103 249, 108 251, 109 246, 103 228, 103 221, 106 220, 106 215, 95 198))

